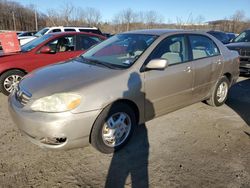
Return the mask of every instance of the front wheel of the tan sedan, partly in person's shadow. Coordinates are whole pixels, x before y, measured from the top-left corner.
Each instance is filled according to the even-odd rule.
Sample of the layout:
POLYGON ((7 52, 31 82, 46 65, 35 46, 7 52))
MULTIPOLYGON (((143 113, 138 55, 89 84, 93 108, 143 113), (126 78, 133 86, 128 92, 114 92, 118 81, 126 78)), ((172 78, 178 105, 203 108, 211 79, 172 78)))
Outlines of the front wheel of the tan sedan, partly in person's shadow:
POLYGON ((90 135, 90 142, 93 147, 102 153, 113 153, 128 142, 135 126, 135 113, 128 105, 124 103, 109 105, 96 119, 90 135), (118 139, 117 142, 111 139, 119 137, 120 140, 118 139))

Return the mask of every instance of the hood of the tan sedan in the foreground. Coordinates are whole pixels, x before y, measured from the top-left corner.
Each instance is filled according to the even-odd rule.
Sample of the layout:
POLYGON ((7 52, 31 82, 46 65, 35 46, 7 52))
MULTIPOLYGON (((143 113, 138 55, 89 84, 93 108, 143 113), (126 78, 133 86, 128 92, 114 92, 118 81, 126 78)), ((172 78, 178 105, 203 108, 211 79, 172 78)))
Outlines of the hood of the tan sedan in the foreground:
POLYGON ((20 87, 37 99, 54 93, 77 92, 119 73, 120 70, 71 60, 31 72, 20 82, 20 87))

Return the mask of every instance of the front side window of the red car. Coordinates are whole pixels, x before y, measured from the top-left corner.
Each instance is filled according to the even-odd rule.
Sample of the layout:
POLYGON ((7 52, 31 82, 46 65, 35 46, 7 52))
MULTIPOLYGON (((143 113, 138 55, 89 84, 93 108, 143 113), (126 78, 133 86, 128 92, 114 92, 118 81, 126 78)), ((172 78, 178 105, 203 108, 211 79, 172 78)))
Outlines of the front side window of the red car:
POLYGON ((64 36, 57 38, 45 46, 51 48, 51 52, 67 52, 75 50, 75 42, 73 36, 64 36))

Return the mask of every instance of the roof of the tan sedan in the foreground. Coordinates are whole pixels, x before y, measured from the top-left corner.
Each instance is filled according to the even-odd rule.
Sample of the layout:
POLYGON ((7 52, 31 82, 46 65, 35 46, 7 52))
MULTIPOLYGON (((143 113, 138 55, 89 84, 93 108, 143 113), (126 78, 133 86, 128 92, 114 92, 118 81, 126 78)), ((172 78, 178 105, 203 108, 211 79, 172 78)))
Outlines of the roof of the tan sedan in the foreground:
POLYGON ((194 34, 205 34, 204 31, 197 30, 183 30, 183 29, 144 29, 124 32, 124 34, 148 34, 148 35, 165 35, 165 34, 181 34, 181 33, 194 33, 194 34))

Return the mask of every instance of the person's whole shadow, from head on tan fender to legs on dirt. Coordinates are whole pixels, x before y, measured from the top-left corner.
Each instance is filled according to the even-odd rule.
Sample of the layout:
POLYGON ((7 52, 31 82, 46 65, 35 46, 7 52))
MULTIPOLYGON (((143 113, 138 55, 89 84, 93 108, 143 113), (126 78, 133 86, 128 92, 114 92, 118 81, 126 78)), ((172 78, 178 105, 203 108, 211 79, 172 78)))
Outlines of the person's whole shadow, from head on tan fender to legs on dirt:
MULTIPOLYGON (((141 78, 138 73, 131 73, 128 90, 123 93, 124 98, 137 97, 147 109, 146 119, 155 116, 151 101, 146 98, 142 89, 141 78)), ((114 152, 106 178, 105 188, 123 188, 149 186, 148 179, 149 141, 145 124, 135 126, 135 132, 129 143, 119 151, 114 152), (130 177, 129 177, 130 176, 130 177), (130 181, 131 180, 131 181, 130 181)))

